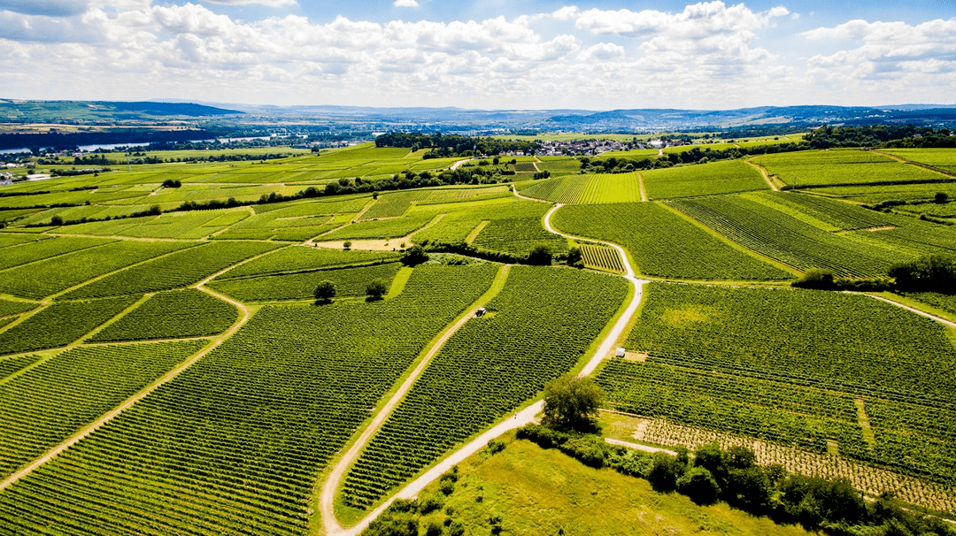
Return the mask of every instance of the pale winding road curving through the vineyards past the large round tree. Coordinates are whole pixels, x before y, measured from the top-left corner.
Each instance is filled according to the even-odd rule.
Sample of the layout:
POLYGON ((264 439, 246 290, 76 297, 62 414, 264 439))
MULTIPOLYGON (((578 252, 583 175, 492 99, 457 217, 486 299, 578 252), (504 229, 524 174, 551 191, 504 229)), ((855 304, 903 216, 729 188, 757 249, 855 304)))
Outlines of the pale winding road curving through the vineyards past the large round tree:
MULTIPOLYGON (((513 187, 513 186, 512 186, 513 187)), ((514 192, 515 196, 520 196, 517 191, 514 192)), ((525 198, 530 199, 530 198, 525 198)), ((532 200, 540 202, 540 200, 532 200)), ((624 267, 625 279, 631 282, 631 285, 634 286, 634 296, 631 298, 631 302, 627 305, 627 308, 622 312, 618 318, 618 321, 615 322, 614 327, 611 328, 611 331, 608 332, 603 341, 601 341, 600 346, 597 348, 595 354, 591 357, 591 360, 584 365, 584 368, 581 369, 581 372, 578 374, 580 376, 591 375, 596 369, 597 366, 604 360, 609 354, 611 354, 615 346, 618 344, 618 340, 621 335, 624 333, 624 330, 627 329, 628 324, 631 322, 631 318, 634 317, 635 312, 638 311, 638 307, 641 305, 641 297, 643 296, 643 287, 645 283, 648 283, 645 280, 638 279, 635 276, 634 268, 631 267, 630 262, 627 259, 627 254, 624 252, 623 247, 619 247, 617 244, 612 244, 610 242, 603 242, 599 240, 592 240, 589 238, 576 237, 569 234, 559 232, 554 229, 551 225, 551 216, 554 214, 554 211, 563 206, 562 204, 555 204, 551 210, 548 211, 544 216, 544 226, 550 232, 563 236, 565 238, 571 238, 574 240, 594 242, 598 244, 603 244, 605 246, 614 247, 618 254, 620 255, 621 262, 624 267)), ((440 346, 440 345, 439 345, 440 346)), ((411 378, 409 378, 406 383, 410 383, 411 378)), ((397 394, 398 395, 398 394, 397 394)), ((526 424, 534 422, 535 418, 544 407, 543 400, 536 400, 530 406, 524 408, 523 410, 515 413, 513 417, 506 418, 502 420, 495 426, 491 427, 488 431, 478 436, 474 440, 468 441, 462 448, 456 450, 455 452, 448 455, 445 460, 440 461, 437 465, 428 469, 421 476, 419 476, 414 481, 405 485, 398 493, 393 495, 385 503, 381 504, 378 508, 372 510, 367 516, 365 516, 357 525, 350 527, 343 527, 338 524, 338 520, 335 518, 335 511, 332 508, 334 501, 335 488, 337 487, 337 482, 330 483, 328 479, 322 488, 322 496, 320 498, 320 506, 322 510, 322 525, 324 525, 327 536, 356 536, 361 533, 362 530, 368 527, 373 521, 375 521, 382 512, 385 511, 388 506, 392 504, 396 499, 413 499, 415 498, 425 486, 431 482, 437 481, 443 474, 451 470, 451 468, 458 463, 466 461, 470 456, 474 455, 478 451, 485 448, 488 445, 489 440, 498 438, 499 436, 514 430, 515 428, 520 428, 526 424), (327 491, 328 490, 328 491, 327 491)), ((385 413, 383 409, 382 412, 385 413)), ((382 417, 383 419, 383 417, 382 417)), ((379 418, 376 418, 379 420, 379 418)), ((363 435, 364 437, 364 435, 363 435)), ((361 448, 359 444, 360 440, 352 447, 352 450, 358 450, 361 448)), ((350 451, 351 453, 351 451, 350 451)), ((344 469, 343 469, 344 470, 344 469)), ((341 478, 341 475, 338 475, 338 478, 341 478)))

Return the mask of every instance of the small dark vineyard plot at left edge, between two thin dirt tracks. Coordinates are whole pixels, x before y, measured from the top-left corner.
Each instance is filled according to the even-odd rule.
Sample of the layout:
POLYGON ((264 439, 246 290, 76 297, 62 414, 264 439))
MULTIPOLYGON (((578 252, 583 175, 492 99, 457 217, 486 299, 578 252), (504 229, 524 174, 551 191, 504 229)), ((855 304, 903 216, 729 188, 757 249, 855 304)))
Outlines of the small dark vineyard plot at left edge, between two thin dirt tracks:
POLYGON ((20 354, 66 346, 133 305, 136 297, 64 302, 36 311, 0 332, 0 354, 20 354))

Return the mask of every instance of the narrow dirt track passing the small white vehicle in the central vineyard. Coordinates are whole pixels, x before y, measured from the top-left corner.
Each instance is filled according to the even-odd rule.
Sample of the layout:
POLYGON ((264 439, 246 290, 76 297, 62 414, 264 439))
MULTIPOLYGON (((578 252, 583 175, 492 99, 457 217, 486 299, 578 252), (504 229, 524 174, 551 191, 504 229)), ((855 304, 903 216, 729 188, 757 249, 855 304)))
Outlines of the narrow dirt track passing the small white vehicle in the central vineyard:
MULTIPOLYGON (((458 332, 466 324, 468 320, 474 317, 475 311, 478 311, 478 308, 485 305, 496 295, 505 285, 505 280, 508 277, 508 270, 511 268, 510 265, 503 266, 498 270, 498 274, 495 276, 494 281, 491 283, 489 290, 485 292, 478 300, 471 305, 471 307, 465 312, 465 314, 451 327, 446 328, 445 332, 439 334, 438 338, 430 343, 430 347, 426 354, 422 357, 418 366, 408 375, 407 378, 402 382, 402 386, 399 387, 398 391, 388 399, 388 402, 381 407, 379 413, 372 419, 372 422, 365 428, 365 430, 359 436, 359 439, 349 448, 348 451, 337 461, 336 466, 333 467, 332 472, 329 473, 329 476, 326 477, 325 482, 322 484, 321 494, 319 495, 319 510, 322 514, 322 525, 325 527, 325 533, 327 535, 332 534, 358 534, 364 526, 367 526, 367 523, 371 523, 378 515, 380 510, 383 510, 384 507, 387 507, 391 502, 385 503, 380 509, 376 509, 373 514, 366 516, 367 523, 362 525, 352 526, 349 528, 344 528, 342 525, 338 524, 336 519, 336 510, 335 510, 335 500, 336 500, 336 490, 338 488, 339 482, 342 481, 342 477, 345 476, 345 472, 352 465, 354 461, 359 458, 359 453, 361 449, 365 447, 369 440, 372 439, 372 436, 376 434, 381 428, 381 425, 384 424, 385 419, 392 414, 392 410, 395 409, 395 406, 398 405, 402 398, 405 397, 405 394, 408 393, 408 390, 412 388, 412 385, 415 384, 415 380, 418 379, 425 367, 428 366, 428 363, 431 362, 431 359, 442 350, 445 346, 445 342, 451 337, 451 335, 458 332)), ((439 473, 439 476, 441 473, 439 473)), ((435 478, 438 478, 436 476, 435 478)), ((431 481, 428 481, 431 482, 431 481)), ((365 522, 365 520, 363 520, 365 522)))

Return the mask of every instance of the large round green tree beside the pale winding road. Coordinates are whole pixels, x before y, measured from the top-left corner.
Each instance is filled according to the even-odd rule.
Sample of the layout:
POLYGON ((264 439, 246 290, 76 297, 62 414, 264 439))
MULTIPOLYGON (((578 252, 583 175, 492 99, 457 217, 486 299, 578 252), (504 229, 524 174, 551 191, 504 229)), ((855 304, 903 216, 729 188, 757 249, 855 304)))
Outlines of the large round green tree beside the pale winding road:
POLYGON ((592 429, 603 397, 593 379, 563 375, 544 386, 543 422, 554 428, 592 429))

